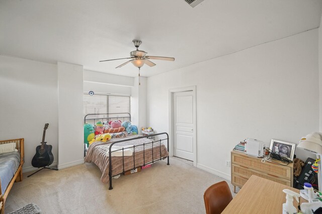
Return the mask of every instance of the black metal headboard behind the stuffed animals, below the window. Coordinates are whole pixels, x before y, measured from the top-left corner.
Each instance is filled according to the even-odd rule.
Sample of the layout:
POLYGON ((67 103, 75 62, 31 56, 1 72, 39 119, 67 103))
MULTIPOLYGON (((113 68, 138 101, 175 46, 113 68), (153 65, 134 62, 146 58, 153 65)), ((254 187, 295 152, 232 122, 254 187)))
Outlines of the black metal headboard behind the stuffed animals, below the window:
POLYGON ((91 123, 95 124, 97 121, 110 121, 110 120, 121 120, 122 122, 128 120, 131 121, 130 113, 100 113, 100 114, 87 114, 84 117, 84 124, 91 123))

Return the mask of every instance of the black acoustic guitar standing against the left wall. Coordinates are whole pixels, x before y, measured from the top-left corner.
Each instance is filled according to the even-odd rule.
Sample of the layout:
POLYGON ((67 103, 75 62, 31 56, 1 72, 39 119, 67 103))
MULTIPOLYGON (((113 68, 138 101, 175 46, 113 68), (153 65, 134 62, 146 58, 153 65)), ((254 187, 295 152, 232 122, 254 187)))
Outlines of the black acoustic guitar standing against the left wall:
POLYGON ((36 147, 36 154, 32 158, 31 165, 33 167, 40 168, 40 167, 49 166, 54 161, 54 156, 51 153, 52 146, 47 145, 46 144, 47 142, 45 142, 45 134, 46 134, 46 129, 48 128, 48 125, 49 125, 48 123, 45 124, 44 132, 42 134, 41 145, 36 147))

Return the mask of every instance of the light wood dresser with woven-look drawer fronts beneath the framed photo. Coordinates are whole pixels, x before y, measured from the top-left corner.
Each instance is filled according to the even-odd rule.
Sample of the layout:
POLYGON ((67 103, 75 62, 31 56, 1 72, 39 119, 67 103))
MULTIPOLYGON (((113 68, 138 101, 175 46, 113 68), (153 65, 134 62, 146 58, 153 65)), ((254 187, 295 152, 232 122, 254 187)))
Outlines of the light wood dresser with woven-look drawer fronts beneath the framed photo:
POLYGON ((285 166, 281 161, 276 160, 276 162, 283 165, 269 161, 263 163, 262 158, 231 151, 231 184, 234 193, 236 193, 236 186, 243 187, 253 174, 293 187, 293 163, 285 166))

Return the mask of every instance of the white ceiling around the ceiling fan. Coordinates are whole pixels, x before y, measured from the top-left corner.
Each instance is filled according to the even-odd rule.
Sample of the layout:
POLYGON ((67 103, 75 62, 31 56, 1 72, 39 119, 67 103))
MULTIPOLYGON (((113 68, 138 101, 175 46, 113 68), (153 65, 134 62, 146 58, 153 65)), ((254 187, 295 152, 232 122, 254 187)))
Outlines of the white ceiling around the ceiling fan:
POLYGON ((1 0, 0 54, 135 77, 126 60, 135 50, 151 60, 142 76, 172 71, 319 27, 322 0, 1 0))

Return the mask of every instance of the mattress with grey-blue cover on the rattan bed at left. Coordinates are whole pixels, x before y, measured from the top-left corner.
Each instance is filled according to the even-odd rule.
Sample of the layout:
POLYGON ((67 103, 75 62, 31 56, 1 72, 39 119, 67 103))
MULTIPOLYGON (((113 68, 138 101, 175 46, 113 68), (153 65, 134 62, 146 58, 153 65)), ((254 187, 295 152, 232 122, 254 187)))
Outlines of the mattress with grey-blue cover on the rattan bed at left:
POLYGON ((0 154, 0 179, 1 190, 4 193, 10 180, 15 175, 20 164, 19 152, 8 152, 0 154))

